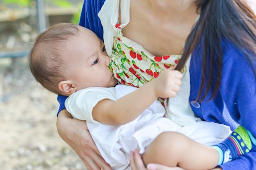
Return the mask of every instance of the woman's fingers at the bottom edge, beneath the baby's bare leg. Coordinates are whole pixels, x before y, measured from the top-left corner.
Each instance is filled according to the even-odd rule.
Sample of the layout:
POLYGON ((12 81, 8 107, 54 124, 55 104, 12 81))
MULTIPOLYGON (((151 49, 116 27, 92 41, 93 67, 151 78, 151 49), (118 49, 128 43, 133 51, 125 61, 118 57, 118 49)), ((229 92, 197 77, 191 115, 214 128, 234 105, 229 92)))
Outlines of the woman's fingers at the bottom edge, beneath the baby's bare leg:
MULTIPOLYGON (((130 152, 130 166, 132 170, 185 170, 180 167, 166 167, 164 165, 150 163, 145 168, 141 156, 136 149, 134 152, 130 152)), ((222 170, 221 168, 214 168, 212 170, 222 170)))

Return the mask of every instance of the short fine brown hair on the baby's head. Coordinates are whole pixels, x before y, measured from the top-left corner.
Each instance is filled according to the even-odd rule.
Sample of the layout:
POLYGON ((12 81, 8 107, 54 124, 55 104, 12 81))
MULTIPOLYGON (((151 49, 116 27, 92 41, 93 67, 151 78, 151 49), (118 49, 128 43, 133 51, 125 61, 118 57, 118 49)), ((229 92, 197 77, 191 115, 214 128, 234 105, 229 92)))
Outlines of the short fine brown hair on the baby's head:
POLYGON ((30 71, 38 83, 53 93, 60 94, 58 83, 64 80, 66 42, 78 34, 79 27, 75 24, 56 24, 39 34, 31 48, 28 56, 30 71))

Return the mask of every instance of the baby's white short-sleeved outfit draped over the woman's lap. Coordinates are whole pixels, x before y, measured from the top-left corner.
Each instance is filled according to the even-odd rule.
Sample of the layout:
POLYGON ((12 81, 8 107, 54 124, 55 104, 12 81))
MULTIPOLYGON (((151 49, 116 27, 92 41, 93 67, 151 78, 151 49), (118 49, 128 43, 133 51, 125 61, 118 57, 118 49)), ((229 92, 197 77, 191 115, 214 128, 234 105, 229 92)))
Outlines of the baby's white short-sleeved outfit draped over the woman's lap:
POLYGON ((165 109, 158 101, 155 101, 137 119, 122 126, 108 126, 92 119, 91 110, 97 102, 103 98, 115 101, 136 89, 125 85, 117 85, 110 89, 92 87, 72 94, 65 102, 66 109, 74 118, 88 120, 91 136, 102 157, 113 170, 129 169, 129 152, 139 148, 140 153, 143 153, 146 146, 165 131, 183 133, 206 145, 217 144, 229 135, 229 127, 217 123, 197 121, 183 127, 170 119, 163 118, 165 109))

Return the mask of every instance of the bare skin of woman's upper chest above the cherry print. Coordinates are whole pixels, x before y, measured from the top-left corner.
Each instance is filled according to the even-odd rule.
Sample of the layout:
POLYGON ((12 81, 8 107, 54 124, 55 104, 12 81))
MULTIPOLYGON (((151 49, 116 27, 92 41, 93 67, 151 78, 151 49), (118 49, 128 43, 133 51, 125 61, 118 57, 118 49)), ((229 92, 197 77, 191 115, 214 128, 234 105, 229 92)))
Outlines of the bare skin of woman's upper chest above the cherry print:
MULTIPOLYGON (((166 12, 165 16, 172 16, 170 10, 166 12)), ((132 1, 129 13, 120 12, 119 23, 123 24, 121 15, 129 15, 129 20, 125 20, 128 24, 122 29, 123 36, 155 56, 182 54, 185 40, 197 18, 197 15, 180 19, 163 17, 132 1)))

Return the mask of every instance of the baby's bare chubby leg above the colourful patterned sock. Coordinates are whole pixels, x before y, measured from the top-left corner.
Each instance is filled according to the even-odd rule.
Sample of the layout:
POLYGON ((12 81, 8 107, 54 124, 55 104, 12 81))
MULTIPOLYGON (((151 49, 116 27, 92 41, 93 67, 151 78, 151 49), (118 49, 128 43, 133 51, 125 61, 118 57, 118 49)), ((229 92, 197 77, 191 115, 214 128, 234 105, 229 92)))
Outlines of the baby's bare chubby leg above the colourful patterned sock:
POLYGON ((164 132, 146 147, 142 159, 145 165, 159 163, 187 170, 208 170, 217 166, 219 153, 181 133, 164 132))

